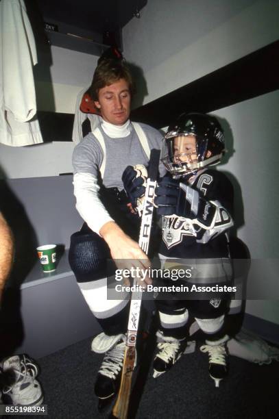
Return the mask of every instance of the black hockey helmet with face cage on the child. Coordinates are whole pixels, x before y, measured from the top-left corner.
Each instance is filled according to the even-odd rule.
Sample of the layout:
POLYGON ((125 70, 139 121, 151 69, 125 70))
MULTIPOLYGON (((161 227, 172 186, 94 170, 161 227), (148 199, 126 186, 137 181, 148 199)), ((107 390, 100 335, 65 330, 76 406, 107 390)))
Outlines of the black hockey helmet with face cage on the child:
POLYGON ((217 164, 225 151, 224 147, 223 129, 215 116, 182 114, 167 130, 163 140, 162 162, 174 177, 193 175, 200 168, 217 164), (178 151, 175 138, 183 139, 184 136, 195 136, 195 151, 178 151))

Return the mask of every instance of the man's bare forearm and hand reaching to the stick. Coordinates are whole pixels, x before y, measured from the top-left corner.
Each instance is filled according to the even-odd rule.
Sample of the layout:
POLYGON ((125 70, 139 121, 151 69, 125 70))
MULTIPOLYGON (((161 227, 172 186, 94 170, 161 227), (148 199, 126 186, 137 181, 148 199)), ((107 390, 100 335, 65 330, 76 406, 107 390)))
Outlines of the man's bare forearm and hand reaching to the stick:
MULTIPOLYGON (((117 268, 122 270, 138 268, 139 272, 145 272, 151 266, 150 260, 138 243, 127 236, 114 221, 109 221, 103 225, 100 229, 100 234, 106 240, 117 268)), ((145 273, 138 277, 139 285, 145 286, 145 284, 152 283, 145 273), (142 278, 144 279, 142 280, 142 278)))

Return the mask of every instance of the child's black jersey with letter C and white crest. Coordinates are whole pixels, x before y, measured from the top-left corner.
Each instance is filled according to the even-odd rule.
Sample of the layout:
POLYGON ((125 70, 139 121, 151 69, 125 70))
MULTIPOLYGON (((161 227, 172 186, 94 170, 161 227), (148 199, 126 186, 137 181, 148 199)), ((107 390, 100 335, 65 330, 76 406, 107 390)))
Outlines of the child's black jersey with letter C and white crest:
POLYGON ((162 217, 161 255, 178 258, 229 257, 227 231, 232 227, 233 188, 228 177, 213 169, 198 173, 193 183, 183 178, 181 183, 199 192, 202 198, 202 217, 206 218, 207 207, 216 205, 215 216, 210 226, 203 226, 202 217, 162 217), (209 205, 204 201, 206 200, 209 205))

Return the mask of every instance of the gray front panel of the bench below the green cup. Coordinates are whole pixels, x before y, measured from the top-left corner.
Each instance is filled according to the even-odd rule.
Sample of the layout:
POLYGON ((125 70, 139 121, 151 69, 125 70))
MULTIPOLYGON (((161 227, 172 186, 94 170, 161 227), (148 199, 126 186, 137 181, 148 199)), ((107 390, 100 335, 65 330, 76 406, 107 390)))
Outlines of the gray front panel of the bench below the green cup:
POLYGON ((36 359, 101 331, 73 275, 21 290, 21 318, 24 338, 16 353, 36 359))

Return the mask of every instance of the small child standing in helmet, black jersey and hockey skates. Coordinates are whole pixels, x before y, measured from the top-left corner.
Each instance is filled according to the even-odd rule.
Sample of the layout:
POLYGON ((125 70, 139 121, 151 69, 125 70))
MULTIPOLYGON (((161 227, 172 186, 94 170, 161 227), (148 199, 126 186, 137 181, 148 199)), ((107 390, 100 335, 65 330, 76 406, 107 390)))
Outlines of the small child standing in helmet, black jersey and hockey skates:
MULTIPOLYGON (((206 114, 183 114, 165 136, 162 162, 171 176, 163 177, 156 188, 155 205, 162 216, 160 259, 165 267, 171 259, 191 266, 193 275, 184 285, 218 285, 223 290, 232 279, 226 234, 233 225, 232 185, 225 175, 208 168, 220 161, 223 151, 221 126, 206 114)), ((130 192, 138 192, 140 183, 135 179, 130 192)), ((194 301, 183 296, 163 300, 159 294, 156 305, 160 331, 154 377, 169 370, 184 352, 191 314, 206 334, 201 351, 208 353, 210 377, 218 386, 227 374, 228 300, 210 294, 194 301)))

